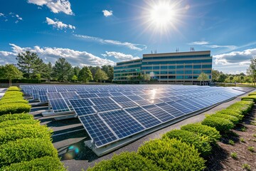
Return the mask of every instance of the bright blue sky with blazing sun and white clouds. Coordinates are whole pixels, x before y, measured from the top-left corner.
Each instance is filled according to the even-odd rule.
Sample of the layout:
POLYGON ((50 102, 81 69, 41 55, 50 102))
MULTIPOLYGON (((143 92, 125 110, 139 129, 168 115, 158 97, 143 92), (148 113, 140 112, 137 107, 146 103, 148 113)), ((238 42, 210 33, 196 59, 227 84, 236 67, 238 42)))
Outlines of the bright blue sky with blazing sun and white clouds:
POLYGON ((246 72, 256 56, 255 7, 254 0, 1 1, 0 64, 26 50, 82 67, 194 47, 210 50, 219 71, 246 72))

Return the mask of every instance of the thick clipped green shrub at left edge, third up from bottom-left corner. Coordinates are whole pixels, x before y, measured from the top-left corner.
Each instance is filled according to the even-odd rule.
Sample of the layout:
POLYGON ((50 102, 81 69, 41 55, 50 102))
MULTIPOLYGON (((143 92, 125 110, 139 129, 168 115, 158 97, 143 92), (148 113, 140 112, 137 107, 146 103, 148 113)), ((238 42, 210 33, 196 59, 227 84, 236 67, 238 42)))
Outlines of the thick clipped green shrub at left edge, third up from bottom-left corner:
POLYGON ((0 129, 0 145, 21 138, 45 138, 50 140, 52 130, 43 125, 16 125, 0 129))

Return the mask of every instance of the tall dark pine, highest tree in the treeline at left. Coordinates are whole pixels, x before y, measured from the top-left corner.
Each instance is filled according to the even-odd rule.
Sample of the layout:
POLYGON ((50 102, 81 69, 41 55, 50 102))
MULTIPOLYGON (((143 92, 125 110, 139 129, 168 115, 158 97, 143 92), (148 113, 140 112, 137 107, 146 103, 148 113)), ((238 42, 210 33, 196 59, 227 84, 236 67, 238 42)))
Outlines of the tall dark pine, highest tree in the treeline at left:
POLYGON ((25 78, 31 78, 31 76, 36 76, 37 73, 43 71, 43 60, 36 53, 30 51, 18 53, 16 60, 18 61, 18 68, 25 78))

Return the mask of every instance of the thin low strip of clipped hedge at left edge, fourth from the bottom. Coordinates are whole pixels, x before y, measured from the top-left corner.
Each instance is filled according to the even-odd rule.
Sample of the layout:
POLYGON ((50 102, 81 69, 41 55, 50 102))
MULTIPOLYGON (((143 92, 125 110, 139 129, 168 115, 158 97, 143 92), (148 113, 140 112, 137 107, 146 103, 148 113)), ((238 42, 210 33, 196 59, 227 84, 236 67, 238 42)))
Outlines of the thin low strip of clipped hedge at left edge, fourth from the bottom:
POLYGON ((10 127, 10 126, 18 126, 20 124, 40 125, 40 122, 39 122, 39 120, 31 120, 31 119, 28 119, 28 120, 6 120, 6 121, 0 123, 0 128, 6 128, 6 127, 10 127))

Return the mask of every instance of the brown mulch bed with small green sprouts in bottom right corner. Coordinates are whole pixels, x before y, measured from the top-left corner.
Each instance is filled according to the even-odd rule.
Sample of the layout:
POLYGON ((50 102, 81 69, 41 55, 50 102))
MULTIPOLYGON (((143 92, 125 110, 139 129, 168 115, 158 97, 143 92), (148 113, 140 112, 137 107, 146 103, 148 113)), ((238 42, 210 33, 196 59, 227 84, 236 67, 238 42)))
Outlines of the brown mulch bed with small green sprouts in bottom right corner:
POLYGON ((256 170, 256 106, 241 124, 230 133, 222 135, 207 160, 206 170, 246 170, 242 168, 244 164, 250 165, 250 170, 256 170), (245 142, 241 142, 241 139, 245 142), (230 145, 230 140, 234 145, 230 145), (248 150, 248 147, 254 147, 254 152, 248 150), (236 152, 237 159, 231 157, 233 152, 236 152))

